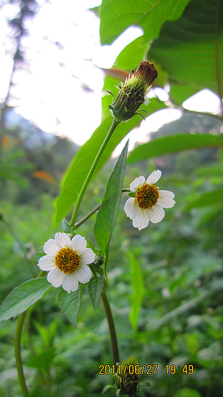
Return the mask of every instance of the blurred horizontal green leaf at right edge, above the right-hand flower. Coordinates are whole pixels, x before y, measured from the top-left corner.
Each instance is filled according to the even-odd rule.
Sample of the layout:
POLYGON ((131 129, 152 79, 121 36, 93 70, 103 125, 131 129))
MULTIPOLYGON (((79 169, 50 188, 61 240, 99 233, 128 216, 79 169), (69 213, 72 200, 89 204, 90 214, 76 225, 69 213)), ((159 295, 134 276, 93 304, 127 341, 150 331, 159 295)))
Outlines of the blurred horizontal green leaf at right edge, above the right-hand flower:
POLYGON ((137 146, 128 156, 127 164, 146 160, 163 154, 203 147, 223 146, 223 135, 179 134, 165 136, 137 146))

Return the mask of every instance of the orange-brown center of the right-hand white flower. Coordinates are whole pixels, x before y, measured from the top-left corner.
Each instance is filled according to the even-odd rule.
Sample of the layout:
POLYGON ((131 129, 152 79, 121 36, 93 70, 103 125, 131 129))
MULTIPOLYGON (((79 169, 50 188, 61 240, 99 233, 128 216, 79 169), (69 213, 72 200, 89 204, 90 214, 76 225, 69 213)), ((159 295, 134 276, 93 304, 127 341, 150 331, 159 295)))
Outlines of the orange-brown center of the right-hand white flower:
POLYGON ((158 188, 154 185, 145 184, 138 190, 136 194, 136 201, 140 208, 151 208, 153 205, 157 203, 159 198, 158 188))

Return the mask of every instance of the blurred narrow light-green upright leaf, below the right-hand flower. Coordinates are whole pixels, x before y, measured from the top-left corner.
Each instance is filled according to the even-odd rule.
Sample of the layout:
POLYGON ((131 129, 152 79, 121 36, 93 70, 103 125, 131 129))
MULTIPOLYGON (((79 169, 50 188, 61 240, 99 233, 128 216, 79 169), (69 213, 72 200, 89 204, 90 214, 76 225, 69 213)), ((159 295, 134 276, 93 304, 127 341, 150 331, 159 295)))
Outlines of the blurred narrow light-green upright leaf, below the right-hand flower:
POLYGON ((133 295, 131 297, 132 309, 130 313, 130 321, 133 329, 136 330, 138 317, 139 317, 143 297, 145 294, 145 288, 144 288, 143 274, 139 266, 138 260, 131 252, 129 253, 129 261, 131 266, 131 282, 133 288, 133 295))

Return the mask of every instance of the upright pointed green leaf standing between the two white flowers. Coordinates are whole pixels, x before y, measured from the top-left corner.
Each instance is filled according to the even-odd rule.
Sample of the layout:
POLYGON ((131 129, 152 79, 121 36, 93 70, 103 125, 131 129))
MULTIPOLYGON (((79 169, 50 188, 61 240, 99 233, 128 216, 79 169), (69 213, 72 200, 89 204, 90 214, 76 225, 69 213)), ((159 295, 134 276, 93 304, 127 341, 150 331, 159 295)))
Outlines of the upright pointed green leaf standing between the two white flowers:
POLYGON ((126 169, 126 156, 128 152, 129 141, 126 142, 122 153, 112 171, 108 180, 104 199, 98 211, 96 223, 94 226, 94 234, 98 247, 102 253, 111 238, 115 227, 117 213, 122 195, 123 178, 126 169))

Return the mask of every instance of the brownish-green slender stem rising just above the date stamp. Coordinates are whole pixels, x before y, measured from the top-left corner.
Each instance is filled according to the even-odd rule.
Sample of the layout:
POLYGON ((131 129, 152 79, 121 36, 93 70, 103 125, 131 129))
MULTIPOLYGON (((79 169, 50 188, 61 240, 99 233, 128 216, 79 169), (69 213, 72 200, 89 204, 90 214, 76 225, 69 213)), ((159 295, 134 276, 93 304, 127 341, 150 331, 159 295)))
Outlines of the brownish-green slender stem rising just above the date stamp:
POLYGON ((120 361, 119 360, 118 341, 117 341, 117 336, 116 336, 115 323, 113 320, 112 311, 111 311, 111 307, 109 304, 106 290, 104 292, 102 292, 101 299, 103 302, 104 311, 105 311, 106 319, 108 322, 108 328, 109 328, 110 339, 111 339, 113 363, 116 365, 116 363, 120 361))

